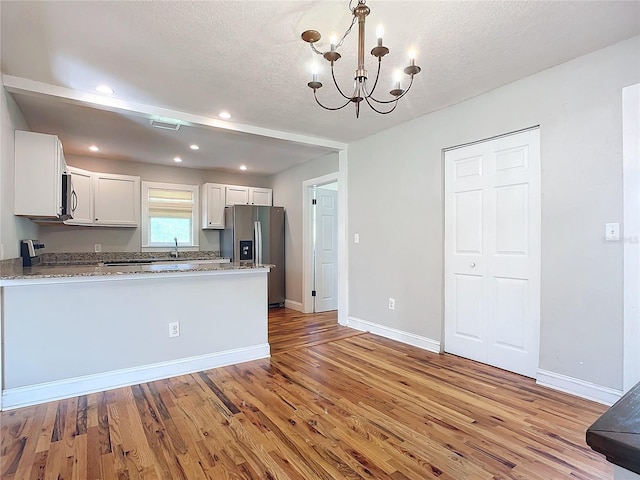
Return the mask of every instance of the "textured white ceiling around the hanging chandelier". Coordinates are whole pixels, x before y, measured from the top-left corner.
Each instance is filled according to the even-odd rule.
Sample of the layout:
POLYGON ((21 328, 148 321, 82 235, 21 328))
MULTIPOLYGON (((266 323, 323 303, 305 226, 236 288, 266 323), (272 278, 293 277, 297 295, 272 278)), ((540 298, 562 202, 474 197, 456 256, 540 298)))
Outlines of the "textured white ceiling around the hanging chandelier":
MULTIPOLYGON (((422 67, 410 94, 386 116, 366 106, 358 120, 352 106, 321 110, 306 86, 314 55, 300 33, 320 31, 319 48, 326 49, 329 35, 342 34, 351 21, 348 3, 342 1, 5 1, 0 7, 2 66, 4 73, 48 84, 90 92, 107 83, 115 96, 132 102, 207 117, 228 110, 241 124, 350 142, 640 33, 636 1, 369 0, 368 5, 370 76, 375 63, 368 51, 378 23, 384 24, 384 43, 391 50, 383 59, 382 93, 391 88, 392 70, 406 65, 410 47, 422 67)), ((354 30, 336 64, 345 90, 353 81, 355 49, 354 30)), ((327 62, 315 58, 325 84, 319 97, 339 103, 329 85, 327 62)), ((36 100, 24 105, 30 124, 46 123, 38 117, 48 106, 36 100)), ((79 144, 76 137, 83 129, 78 123, 87 122, 78 111, 59 113, 78 115, 65 127, 78 131, 64 133, 79 144)), ((115 131, 133 137, 125 128, 115 131)), ((212 140, 212 148, 218 141, 212 140)), ((266 140, 246 141, 259 149, 266 140)), ((220 157, 246 154, 236 151, 234 142, 221 144, 220 157)), ((133 138, 125 143, 131 150, 114 156, 141 156, 133 138)), ((293 156, 304 161, 322 151, 299 153, 293 156)))

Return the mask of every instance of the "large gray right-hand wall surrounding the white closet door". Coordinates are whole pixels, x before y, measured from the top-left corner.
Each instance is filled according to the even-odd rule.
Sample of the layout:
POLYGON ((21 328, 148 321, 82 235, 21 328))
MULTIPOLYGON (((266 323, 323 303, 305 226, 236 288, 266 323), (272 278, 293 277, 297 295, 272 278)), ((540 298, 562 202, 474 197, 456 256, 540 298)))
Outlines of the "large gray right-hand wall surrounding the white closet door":
POLYGON ((635 37, 350 144, 349 314, 440 340, 442 149, 540 125, 540 368, 620 389, 623 246, 604 224, 622 222, 621 90, 639 59, 635 37))

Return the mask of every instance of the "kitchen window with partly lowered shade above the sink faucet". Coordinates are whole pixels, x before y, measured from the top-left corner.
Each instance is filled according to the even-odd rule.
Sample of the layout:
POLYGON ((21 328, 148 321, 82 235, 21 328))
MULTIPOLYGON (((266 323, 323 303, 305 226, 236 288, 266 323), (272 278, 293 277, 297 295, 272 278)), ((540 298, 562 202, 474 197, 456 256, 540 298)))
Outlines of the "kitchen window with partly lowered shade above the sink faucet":
POLYGON ((142 182, 142 247, 198 246, 198 187, 142 182))

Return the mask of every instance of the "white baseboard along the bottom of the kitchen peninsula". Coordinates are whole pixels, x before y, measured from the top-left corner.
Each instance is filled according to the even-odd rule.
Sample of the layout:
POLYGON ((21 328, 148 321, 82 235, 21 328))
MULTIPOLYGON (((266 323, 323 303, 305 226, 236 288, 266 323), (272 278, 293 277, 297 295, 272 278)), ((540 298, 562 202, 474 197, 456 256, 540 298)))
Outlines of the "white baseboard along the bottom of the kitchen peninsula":
POLYGON ((112 388, 126 387, 138 383, 186 375, 210 368, 258 360, 260 358, 267 358, 269 355, 269 344, 263 343, 251 347, 236 348, 196 357, 181 358, 169 362, 143 365, 141 367, 97 373, 26 387, 10 388, 2 392, 2 408, 3 410, 12 410, 14 408, 27 407, 38 403, 102 392, 112 388))

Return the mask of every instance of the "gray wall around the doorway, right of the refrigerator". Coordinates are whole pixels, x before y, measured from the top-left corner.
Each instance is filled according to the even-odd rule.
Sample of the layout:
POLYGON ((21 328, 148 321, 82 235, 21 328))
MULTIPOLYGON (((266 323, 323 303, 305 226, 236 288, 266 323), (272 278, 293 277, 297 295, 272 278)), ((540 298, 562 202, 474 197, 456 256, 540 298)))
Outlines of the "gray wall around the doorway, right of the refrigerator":
POLYGON ((270 177, 273 204, 285 208, 287 300, 302 303, 302 182, 338 171, 338 154, 330 153, 270 177))

